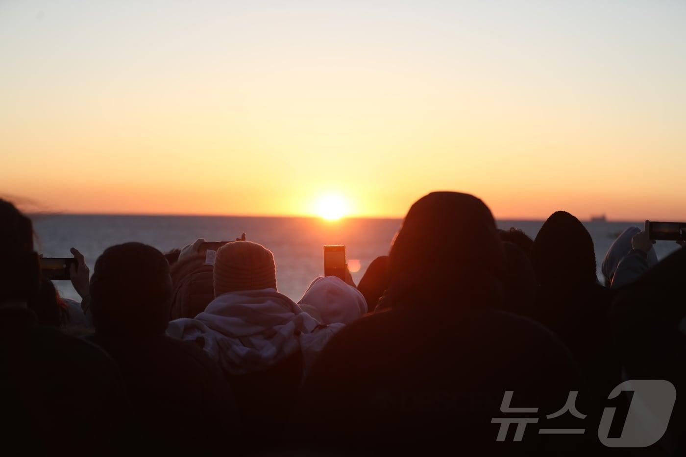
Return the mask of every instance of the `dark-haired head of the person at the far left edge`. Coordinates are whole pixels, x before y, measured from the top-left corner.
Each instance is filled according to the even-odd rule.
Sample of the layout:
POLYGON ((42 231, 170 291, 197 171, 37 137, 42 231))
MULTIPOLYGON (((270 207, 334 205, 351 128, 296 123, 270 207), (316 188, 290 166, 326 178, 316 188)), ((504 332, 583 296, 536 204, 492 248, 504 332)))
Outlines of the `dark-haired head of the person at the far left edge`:
POLYGON ((38 292, 40 266, 33 224, 14 204, 0 198, 0 303, 27 300, 38 292))

